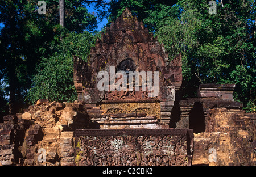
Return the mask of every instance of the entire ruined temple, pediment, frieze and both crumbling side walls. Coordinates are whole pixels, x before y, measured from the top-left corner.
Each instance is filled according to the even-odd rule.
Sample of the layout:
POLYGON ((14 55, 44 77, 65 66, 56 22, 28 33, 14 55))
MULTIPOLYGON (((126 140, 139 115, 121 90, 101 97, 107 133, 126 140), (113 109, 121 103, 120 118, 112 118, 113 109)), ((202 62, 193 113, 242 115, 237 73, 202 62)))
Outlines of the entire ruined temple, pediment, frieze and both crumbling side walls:
POLYGON ((74 57, 78 100, 40 99, 3 117, 0 165, 256 165, 256 114, 233 100, 233 84, 200 85, 197 98, 180 99, 181 57, 168 61, 164 46, 126 9, 87 62, 74 57), (132 90, 100 91, 100 71, 109 87, 117 71, 158 71, 159 83, 154 75, 154 89, 144 89, 142 74, 132 90))

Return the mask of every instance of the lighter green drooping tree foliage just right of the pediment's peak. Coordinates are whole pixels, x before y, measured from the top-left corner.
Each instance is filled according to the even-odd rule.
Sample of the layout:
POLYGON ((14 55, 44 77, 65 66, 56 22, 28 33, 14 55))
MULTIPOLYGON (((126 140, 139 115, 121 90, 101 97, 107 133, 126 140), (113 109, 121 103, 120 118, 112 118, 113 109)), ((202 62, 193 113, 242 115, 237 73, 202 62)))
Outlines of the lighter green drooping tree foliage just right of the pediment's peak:
POLYGON ((196 10, 184 11, 179 18, 168 17, 162 20, 163 26, 158 29, 156 36, 164 44, 172 60, 177 54, 183 56, 183 76, 191 79, 191 66, 188 53, 199 46, 197 31, 201 26, 200 15, 196 10))

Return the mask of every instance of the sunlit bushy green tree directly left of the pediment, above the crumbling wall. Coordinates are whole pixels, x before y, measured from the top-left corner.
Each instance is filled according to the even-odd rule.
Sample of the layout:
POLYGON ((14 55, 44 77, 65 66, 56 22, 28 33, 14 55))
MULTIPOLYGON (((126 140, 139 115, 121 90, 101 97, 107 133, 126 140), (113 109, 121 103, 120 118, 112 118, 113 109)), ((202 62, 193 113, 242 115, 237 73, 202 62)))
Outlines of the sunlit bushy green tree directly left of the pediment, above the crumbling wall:
POLYGON ((73 56, 86 60, 96 42, 96 35, 89 32, 66 33, 59 44, 51 44, 56 52, 38 65, 37 73, 32 79, 34 86, 28 92, 28 100, 35 103, 47 98, 58 102, 73 102, 77 99, 73 83, 73 56))

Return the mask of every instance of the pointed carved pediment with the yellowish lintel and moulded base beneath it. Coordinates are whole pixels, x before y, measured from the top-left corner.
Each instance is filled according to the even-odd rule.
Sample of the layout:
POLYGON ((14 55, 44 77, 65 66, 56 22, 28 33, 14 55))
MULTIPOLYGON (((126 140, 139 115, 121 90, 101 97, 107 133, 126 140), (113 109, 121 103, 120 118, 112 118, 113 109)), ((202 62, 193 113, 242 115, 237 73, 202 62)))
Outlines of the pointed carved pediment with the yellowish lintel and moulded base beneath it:
MULTIPOLYGON (((131 128, 132 125, 138 124, 167 125, 170 123, 175 91, 179 90, 182 82, 181 66, 181 55, 168 61, 168 53, 163 44, 144 28, 142 22, 138 22, 136 16, 125 9, 115 23, 112 22, 110 27, 106 28, 106 32, 102 33, 101 39, 97 39, 87 62, 80 57, 74 57, 74 83, 78 100, 87 104, 89 115, 101 129, 111 128, 110 125, 114 125, 114 122, 109 124, 110 119, 117 117, 130 117, 131 121, 124 123, 126 127, 122 128, 131 128), (108 73, 108 88, 103 91, 97 87, 102 81, 102 77, 98 78, 100 71, 108 73), (144 72, 146 77, 139 75, 137 85, 136 82, 127 82, 131 90, 128 90, 128 86, 127 89, 124 87, 125 89, 120 91, 116 87, 113 90, 110 89, 111 85, 121 79, 115 75, 117 71, 133 71, 139 74, 144 72), (158 75, 155 75, 156 71, 158 75), (150 74, 152 78, 147 80, 150 74), (146 89, 143 88, 143 81, 147 81, 146 89), (149 83, 153 90, 150 89, 149 83), (135 85, 138 89, 134 89, 135 85), (154 121, 148 123, 148 118, 154 121)), ((128 76, 127 74, 127 81, 128 76)))

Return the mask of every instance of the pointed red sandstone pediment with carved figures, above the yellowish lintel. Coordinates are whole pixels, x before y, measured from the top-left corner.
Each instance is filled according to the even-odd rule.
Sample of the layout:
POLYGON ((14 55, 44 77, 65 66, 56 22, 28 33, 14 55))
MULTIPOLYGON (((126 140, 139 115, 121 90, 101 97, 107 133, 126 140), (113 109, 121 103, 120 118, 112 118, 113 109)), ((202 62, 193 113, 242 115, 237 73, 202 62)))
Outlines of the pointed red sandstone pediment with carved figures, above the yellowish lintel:
POLYGON ((168 122, 175 91, 182 82, 181 66, 181 55, 169 61, 163 44, 125 9, 97 39, 87 62, 74 57, 74 83, 78 99, 86 103, 160 102, 161 119, 168 122), (103 78, 98 75, 102 71, 103 78, 108 78, 103 85, 103 78), (117 76, 118 71, 122 77, 117 76), (135 80, 130 82, 131 77, 135 80), (122 89, 118 90, 116 84, 121 78, 122 89), (98 86, 104 90, 99 91, 98 86))

